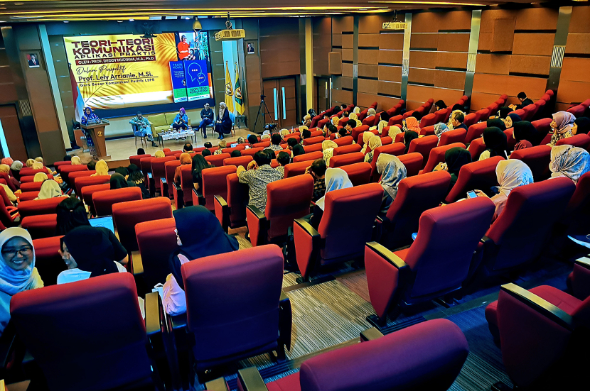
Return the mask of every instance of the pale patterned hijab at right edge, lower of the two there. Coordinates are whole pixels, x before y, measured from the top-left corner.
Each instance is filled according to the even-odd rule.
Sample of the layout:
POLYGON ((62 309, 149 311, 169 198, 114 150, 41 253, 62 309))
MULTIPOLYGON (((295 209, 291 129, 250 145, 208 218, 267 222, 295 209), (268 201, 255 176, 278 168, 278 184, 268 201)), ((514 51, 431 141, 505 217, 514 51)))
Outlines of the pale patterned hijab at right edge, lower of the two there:
POLYGON ((568 177, 578 183, 580 177, 590 171, 590 154, 572 145, 557 145, 551 148, 549 170, 552 178, 568 177))

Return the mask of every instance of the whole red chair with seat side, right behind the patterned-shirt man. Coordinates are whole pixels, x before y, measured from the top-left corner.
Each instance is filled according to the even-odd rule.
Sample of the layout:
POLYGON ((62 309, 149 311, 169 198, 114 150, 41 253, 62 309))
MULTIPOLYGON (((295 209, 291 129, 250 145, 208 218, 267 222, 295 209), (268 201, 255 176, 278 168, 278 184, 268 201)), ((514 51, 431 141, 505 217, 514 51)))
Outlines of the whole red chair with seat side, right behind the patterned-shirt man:
POLYGON ((298 175, 267 185, 267 208, 264 212, 248 205, 246 216, 252 246, 280 240, 294 219, 309 214, 313 195, 311 175, 298 175))

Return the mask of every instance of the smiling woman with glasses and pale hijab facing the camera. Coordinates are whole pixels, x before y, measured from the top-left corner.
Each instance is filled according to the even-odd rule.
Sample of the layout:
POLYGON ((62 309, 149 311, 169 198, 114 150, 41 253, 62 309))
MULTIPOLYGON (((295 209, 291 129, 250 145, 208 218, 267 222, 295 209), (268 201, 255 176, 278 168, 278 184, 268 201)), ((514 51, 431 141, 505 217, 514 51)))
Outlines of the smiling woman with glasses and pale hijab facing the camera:
POLYGON ((23 228, 6 228, 0 233, 0 334, 10 320, 12 297, 41 287, 31 235, 23 228))

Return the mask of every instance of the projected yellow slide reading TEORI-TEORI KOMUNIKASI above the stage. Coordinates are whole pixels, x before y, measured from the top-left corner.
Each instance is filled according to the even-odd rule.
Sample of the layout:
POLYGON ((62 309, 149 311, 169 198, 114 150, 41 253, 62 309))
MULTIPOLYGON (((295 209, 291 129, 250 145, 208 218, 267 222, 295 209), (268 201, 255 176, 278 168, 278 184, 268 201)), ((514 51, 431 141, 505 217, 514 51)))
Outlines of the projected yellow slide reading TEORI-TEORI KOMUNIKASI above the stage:
POLYGON ((64 37, 86 106, 131 109, 213 98, 206 32, 64 37))

